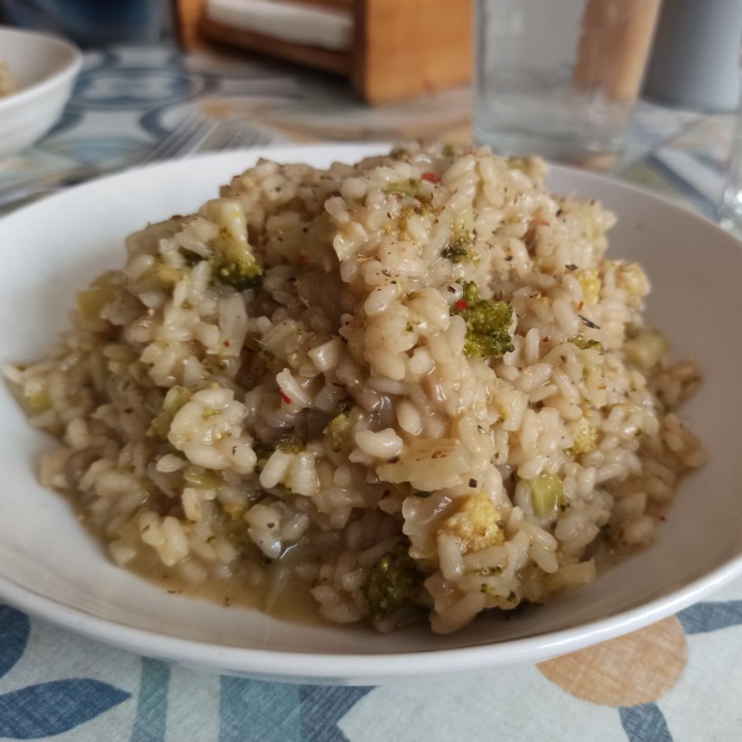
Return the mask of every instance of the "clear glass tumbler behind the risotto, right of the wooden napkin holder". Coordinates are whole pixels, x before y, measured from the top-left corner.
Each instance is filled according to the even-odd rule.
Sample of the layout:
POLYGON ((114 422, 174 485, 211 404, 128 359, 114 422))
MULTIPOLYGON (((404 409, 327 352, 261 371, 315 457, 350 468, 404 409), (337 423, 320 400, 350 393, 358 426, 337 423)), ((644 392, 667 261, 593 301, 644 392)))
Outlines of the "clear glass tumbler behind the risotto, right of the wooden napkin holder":
POLYGON ((660 2, 476 0, 476 140, 503 154, 610 166, 660 2))

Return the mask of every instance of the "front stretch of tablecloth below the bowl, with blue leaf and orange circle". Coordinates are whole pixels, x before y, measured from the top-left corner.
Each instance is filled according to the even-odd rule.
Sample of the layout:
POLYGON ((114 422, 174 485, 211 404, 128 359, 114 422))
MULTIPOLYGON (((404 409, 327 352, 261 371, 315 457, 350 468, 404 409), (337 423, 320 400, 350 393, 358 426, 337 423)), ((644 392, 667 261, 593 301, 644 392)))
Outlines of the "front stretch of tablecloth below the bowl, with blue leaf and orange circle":
POLYGON ((742 584, 591 649, 378 688, 197 672, 0 606, 0 739, 435 742, 742 739, 742 584))

